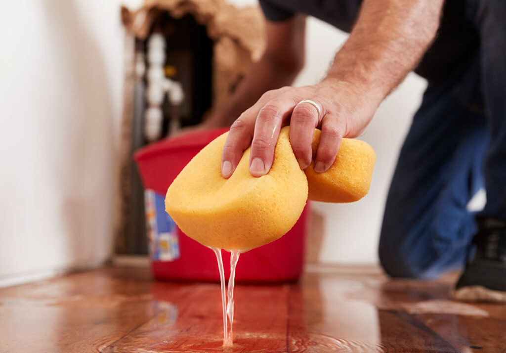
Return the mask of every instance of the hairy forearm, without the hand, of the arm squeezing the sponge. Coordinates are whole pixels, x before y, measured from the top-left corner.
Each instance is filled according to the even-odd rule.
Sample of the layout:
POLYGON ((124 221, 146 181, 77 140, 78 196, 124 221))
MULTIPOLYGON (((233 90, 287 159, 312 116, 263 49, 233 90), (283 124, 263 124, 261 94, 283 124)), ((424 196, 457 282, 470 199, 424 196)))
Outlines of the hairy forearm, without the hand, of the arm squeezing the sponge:
POLYGON ((433 41, 443 0, 364 0, 325 80, 349 83, 381 102, 433 41))

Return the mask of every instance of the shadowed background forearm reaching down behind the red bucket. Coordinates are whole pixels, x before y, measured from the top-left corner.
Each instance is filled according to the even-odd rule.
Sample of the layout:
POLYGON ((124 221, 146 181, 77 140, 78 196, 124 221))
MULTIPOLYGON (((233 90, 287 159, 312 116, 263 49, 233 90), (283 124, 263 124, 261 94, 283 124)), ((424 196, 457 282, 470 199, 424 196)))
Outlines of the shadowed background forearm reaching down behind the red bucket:
POLYGON ((266 91, 290 85, 300 71, 299 66, 286 65, 269 54, 253 64, 236 91, 215 113, 221 125, 230 126, 234 120, 266 91))

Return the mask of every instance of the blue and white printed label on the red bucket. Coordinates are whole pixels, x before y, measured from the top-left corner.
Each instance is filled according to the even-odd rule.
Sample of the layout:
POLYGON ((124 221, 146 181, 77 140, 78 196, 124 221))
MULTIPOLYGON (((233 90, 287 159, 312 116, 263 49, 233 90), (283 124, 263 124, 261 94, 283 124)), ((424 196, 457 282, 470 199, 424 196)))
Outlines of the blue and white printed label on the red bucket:
POLYGON ((176 223, 165 212, 165 199, 153 190, 144 191, 149 254, 153 261, 179 259, 176 223))

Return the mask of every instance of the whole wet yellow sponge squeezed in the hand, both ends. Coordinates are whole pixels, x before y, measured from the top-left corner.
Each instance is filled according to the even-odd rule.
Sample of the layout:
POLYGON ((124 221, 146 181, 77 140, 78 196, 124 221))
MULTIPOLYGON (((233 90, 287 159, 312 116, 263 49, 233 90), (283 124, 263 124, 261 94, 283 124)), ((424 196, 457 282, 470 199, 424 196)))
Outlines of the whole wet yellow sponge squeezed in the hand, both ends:
MULTIPOLYGON (((197 242, 225 250, 247 251, 281 238, 297 222, 308 199, 352 202, 368 191, 375 155, 365 142, 343 139, 325 173, 312 165, 302 171, 281 129, 270 172, 251 176, 246 149, 229 179, 221 174, 225 133, 205 146, 167 190, 165 210, 197 242), (308 187, 309 184, 309 187, 308 187)), ((320 131, 315 130, 313 151, 320 131)))

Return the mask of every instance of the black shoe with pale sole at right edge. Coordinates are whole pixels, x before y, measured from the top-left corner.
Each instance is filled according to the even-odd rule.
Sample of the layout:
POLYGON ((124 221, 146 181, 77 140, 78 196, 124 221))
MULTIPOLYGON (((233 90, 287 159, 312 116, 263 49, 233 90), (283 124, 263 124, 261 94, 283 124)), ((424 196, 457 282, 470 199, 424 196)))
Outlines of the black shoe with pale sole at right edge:
POLYGON ((506 222, 480 220, 473 243, 474 258, 451 296, 464 301, 506 302, 506 222))

